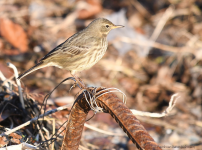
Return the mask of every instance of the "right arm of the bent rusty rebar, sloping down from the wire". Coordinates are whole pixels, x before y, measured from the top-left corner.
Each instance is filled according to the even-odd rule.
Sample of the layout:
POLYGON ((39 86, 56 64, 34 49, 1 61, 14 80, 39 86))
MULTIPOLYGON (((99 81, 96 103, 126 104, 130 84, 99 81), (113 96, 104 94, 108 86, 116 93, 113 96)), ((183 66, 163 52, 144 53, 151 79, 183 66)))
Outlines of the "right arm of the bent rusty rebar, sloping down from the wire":
POLYGON ((136 144, 137 148, 146 150, 161 149, 130 109, 115 94, 104 94, 98 98, 97 103, 116 120, 132 142, 136 144))

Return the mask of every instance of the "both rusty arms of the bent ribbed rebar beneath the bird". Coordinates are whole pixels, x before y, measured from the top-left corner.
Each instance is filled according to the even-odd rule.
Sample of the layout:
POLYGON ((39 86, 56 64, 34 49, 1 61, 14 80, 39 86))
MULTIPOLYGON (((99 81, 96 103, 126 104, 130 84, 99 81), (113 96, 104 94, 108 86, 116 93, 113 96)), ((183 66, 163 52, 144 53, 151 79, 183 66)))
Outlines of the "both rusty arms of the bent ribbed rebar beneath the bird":
MULTIPOLYGON (((130 109, 127 108, 122 100, 120 100, 115 94, 107 93, 100 96, 97 99, 97 104, 116 120, 132 142, 136 144, 138 149, 161 150, 158 144, 132 114, 130 109)), ((82 93, 72 107, 66 127, 66 135, 63 140, 62 150, 78 149, 85 119, 89 111, 90 107, 82 93)))

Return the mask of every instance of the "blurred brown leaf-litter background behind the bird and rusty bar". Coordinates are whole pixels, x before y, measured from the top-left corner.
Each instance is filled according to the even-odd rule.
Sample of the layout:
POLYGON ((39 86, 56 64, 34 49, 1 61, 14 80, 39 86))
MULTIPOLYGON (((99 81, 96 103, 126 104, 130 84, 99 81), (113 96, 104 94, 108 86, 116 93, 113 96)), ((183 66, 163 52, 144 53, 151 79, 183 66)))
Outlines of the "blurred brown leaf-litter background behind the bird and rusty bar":
MULTIPOLYGON (((111 31, 104 57, 77 76, 88 86, 122 90, 127 106, 141 111, 160 113, 171 95, 179 93, 169 116, 139 119, 163 149, 202 149, 201 0, 0 0, 0 71, 12 80, 7 62, 22 73, 99 17, 125 28, 111 31)), ((47 67, 21 82, 24 93, 40 102, 70 76, 69 71, 47 67)), ((76 87, 69 92, 72 85, 66 81, 53 92, 50 108, 72 103, 80 91, 76 87)), ((67 120, 66 115, 57 115, 57 125, 67 120)), ((122 133, 107 114, 97 114, 87 123, 122 133)), ((83 133, 82 144, 89 149, 136 149, 127 136, 89 129, 83 133)))

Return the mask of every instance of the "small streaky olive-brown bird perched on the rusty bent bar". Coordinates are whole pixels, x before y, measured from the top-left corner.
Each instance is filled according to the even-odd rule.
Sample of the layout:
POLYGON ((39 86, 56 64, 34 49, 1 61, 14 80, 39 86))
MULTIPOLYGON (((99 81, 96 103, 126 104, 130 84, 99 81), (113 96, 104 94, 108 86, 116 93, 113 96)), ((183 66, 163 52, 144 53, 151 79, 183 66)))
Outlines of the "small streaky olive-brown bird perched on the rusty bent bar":
POLYGON ((55 66, 69 70, 78 81, 75 73, 95 65, 107 50, 107 35, 109 32, 122 27, 124 26, 114 25, 108 19, 97 18, 85 29, 75 33, 52 49, 35 66, 19 75, 18 79, 20 80, 38 69, 55 66))

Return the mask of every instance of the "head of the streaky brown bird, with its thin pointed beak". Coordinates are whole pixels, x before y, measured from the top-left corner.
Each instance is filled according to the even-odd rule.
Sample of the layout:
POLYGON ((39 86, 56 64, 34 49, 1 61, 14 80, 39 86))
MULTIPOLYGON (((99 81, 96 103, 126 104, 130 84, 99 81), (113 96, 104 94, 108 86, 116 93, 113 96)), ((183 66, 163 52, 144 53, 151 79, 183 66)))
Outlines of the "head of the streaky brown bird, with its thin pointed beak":
POLYGON ((114 25, 111 21, 105 18, 95 19, 89 24, 89 28, 94 32, 100 33, 102 35, 107 35, 112 29, 122 28, 124 26, 114 25))

